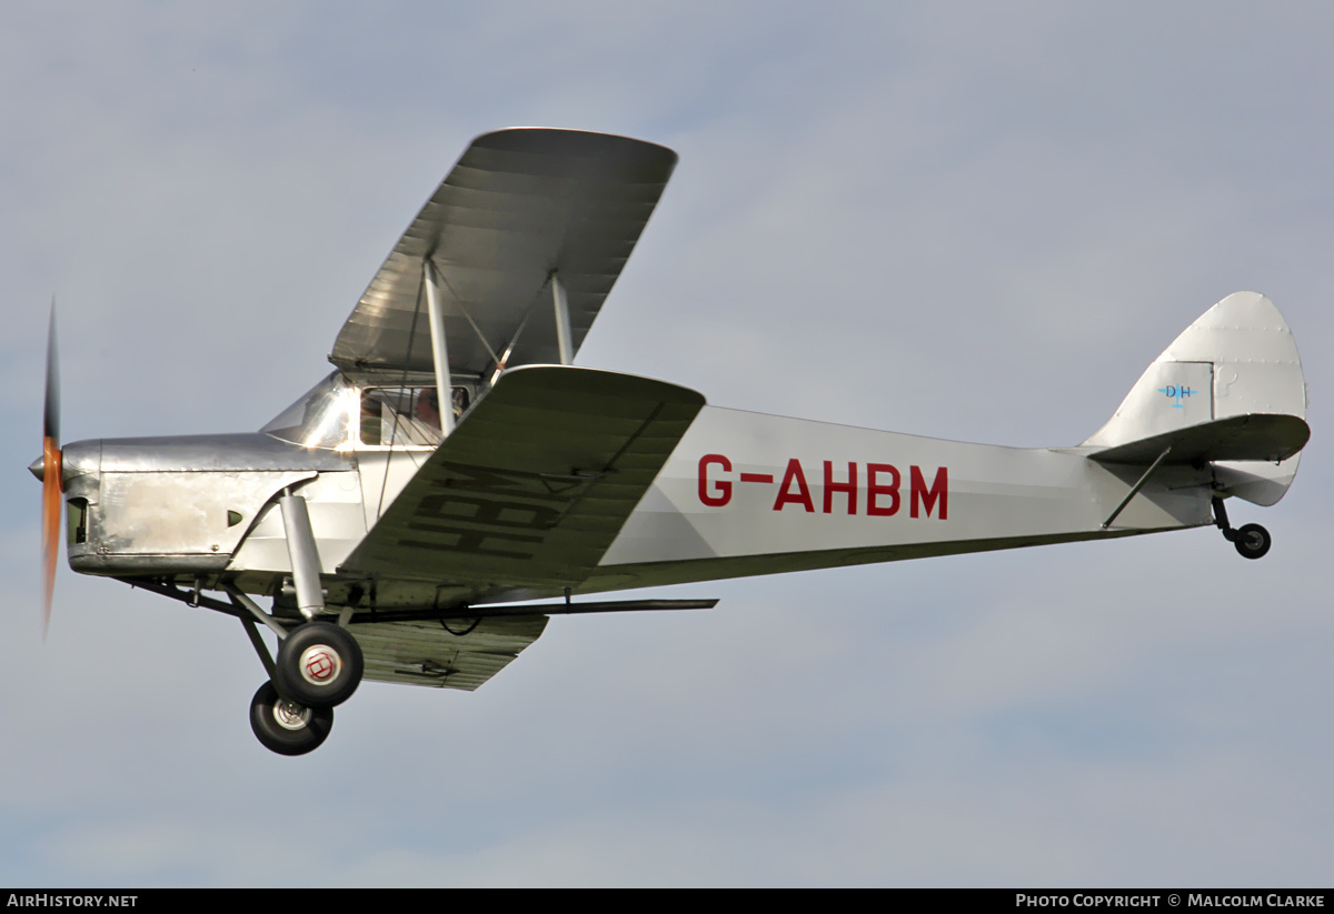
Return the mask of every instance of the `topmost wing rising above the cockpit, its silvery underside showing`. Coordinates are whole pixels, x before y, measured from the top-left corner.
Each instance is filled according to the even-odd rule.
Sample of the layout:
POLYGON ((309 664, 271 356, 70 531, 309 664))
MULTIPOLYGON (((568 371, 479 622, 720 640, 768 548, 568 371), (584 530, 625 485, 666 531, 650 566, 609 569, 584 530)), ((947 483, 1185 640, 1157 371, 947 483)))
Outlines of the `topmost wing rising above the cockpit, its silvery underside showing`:
POLYGON ((431 257, 444 286, 451 372, 488 372, 520 328, 507 365, 559 361, 552 309, 534 306, 551 301, 551 273, 566 288, 578 350, 675 165, 671 149, 606 133, 479 136, 394 245, 329 360, 432 370, 419 302, 431 257))

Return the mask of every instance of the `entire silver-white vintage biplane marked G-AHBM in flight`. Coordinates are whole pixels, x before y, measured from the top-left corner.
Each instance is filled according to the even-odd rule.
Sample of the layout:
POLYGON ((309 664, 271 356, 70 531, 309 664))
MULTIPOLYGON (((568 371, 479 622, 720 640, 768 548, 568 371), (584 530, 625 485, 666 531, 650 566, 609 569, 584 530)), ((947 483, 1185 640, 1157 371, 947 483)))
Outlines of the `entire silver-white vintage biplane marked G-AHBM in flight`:
POLYGON ((352 309, 334 370, 253 433, 61 446, 52 304, 29 468, 43 637, 64 513, 75 572, 240 621, 267 677, 255 735, 300 755, 363 678, 474 690, 551 616, 718 602, 594 594, 1210 525, 1269 552, 1225 500, 1282 498, 1310 428, 1293 333, 1258 293, 1206 310, 1074 446, 731 410, 575 366, 675 164, 603 133, 476 137, 352 309))

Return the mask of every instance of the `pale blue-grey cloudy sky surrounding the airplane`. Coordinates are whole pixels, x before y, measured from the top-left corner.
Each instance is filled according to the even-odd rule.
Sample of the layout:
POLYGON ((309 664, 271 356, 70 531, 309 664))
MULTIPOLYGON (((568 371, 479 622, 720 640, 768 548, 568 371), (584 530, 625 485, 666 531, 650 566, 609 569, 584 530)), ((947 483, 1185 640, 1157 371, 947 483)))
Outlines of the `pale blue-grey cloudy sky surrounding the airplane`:
POLYGON ((1329 886, 1334 11, 1319 3, 0 5, 0 883, 1329 886), (680 164, 578 362, 1073 445, 1226 294, 1311 442, 1217 530, 650 592, 476 693, 249 731, 235 621, 61 566, 63 436, 253 430, 468 141, 680 164), (1323 558, 1322 558, 1323 557, 1323 558))

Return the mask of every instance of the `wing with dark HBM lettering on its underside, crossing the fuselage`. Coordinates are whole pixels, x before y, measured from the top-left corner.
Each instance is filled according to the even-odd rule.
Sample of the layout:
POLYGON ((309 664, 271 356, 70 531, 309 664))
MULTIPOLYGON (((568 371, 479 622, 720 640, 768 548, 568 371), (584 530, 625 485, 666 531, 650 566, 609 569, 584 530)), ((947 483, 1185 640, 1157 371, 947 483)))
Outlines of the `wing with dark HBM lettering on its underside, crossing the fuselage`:
POLYGON ((703 405, 694 390, 630 374, 506 372, 340 570, 478 597, 578 586, 703 405))

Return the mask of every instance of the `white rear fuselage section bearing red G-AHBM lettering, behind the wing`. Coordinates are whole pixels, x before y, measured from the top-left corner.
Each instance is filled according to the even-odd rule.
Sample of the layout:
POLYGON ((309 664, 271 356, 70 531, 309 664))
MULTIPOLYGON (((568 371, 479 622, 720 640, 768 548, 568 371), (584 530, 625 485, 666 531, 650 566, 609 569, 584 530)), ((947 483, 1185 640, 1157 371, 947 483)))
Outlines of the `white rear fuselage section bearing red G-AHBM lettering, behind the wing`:
POLYGON ((594 581, 647 586, 1201 526, 1210 474, 706 406, 594 581))

